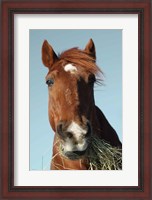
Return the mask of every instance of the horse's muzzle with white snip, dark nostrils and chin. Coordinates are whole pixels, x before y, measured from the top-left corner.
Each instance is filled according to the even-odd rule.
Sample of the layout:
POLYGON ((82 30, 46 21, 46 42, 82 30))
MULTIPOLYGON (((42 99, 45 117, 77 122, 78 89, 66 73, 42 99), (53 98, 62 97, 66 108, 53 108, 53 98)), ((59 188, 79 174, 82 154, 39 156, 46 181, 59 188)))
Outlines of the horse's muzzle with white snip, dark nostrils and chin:
POLYGON ((57 134, 61 139, 62 154, 75 160, 85 155, 90 144, 92 129, 89 122, 82 125, 76 122, 70 124, 60 122, 57 126, 57 134))

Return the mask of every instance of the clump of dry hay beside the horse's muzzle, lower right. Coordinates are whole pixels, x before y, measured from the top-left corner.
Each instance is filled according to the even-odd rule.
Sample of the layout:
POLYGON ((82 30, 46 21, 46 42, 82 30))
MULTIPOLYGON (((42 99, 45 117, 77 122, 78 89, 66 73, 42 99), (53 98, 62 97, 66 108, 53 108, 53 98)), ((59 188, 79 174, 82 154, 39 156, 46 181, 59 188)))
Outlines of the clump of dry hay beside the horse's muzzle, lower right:
POLYGON ((97 137, 92 137, 87 152, 89 170, 121 170, 122 150, 112 147, 97 137))

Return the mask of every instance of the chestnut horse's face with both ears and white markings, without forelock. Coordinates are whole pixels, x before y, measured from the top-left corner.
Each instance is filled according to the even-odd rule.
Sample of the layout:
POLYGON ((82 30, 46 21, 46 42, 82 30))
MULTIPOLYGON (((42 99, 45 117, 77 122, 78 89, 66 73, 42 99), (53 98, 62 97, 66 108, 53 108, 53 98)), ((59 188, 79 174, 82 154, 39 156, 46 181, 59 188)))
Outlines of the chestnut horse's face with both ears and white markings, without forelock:
MULTIPOLYGON (((95 57, 92 40, 83 54, 89 54, 88 58, 91 58, 90 55, 95 57)), ((92 134, 95 75, 82 67, 81 63, 58 58, 46 42, 42 48, 42 60, 49 68, 46 83, 49 91, 50 124, 61 139, 63 154, 70 159, 78 159, 85 154, 92 134)), ((94 62, 92 58, 91 62, 94 62)))

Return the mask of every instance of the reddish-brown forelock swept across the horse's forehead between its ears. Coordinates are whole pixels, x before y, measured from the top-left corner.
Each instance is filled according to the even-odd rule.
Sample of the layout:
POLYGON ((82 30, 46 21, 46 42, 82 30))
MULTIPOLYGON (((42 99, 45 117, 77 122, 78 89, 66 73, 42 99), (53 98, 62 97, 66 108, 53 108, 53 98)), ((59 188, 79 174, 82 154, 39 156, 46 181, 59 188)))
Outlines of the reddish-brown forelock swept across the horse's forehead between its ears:
POLYGON ((96 65, 95 58, 76 47, 59 54, 59 60, 73 63, 95 75, 102 73, 101 69, 96 65))

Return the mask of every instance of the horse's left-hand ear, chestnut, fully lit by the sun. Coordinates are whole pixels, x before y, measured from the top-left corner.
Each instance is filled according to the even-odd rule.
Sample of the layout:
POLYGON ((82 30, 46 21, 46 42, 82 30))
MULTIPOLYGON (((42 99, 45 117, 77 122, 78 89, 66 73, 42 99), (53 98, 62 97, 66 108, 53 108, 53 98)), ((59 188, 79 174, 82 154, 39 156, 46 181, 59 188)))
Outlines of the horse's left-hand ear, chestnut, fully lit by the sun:
POLYGON ((45 40, 42 45, 43 64, 46 67, 50 68, 53 65, 53 63, 55 63, 57 60, 58 60, 58 57, 57 57, 56 53, 54 52, 53 48, 48 43, 48 41, 45 40))

